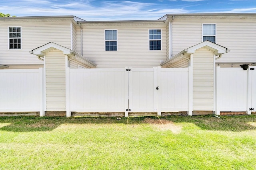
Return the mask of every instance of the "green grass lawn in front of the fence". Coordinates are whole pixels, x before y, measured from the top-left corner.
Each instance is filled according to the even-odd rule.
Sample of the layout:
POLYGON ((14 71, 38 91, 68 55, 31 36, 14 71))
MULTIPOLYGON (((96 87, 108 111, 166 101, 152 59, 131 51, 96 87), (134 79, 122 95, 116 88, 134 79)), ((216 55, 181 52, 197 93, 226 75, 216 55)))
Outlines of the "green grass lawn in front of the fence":
POLYGON ((0 169, 255 170, 256 115, 0 117, 0 169))

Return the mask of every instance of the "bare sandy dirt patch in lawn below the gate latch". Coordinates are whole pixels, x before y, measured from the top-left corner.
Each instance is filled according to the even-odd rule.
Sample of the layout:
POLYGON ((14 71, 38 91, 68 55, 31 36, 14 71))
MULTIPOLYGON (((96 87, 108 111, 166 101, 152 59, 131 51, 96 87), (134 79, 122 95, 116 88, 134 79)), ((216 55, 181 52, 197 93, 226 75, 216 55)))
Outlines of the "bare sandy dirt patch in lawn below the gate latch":
POLYGON ((151 119, 146 118, 144 119, 144 123, 151 124, 152 126, 156 127, 161 131, 170 130, 172 133, 179 134, 181 132, 182 127, 179 125, 175 125, 172 121, 165 120, 165 119, 151 119))

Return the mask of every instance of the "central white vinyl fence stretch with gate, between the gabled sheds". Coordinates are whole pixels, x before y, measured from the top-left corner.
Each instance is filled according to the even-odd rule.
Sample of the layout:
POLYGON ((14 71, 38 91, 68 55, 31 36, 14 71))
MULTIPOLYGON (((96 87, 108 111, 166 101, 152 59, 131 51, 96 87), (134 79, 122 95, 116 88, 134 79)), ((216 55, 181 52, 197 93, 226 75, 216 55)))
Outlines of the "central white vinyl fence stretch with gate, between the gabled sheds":
POLYGON ((129 112, 188 111, 188 68, 67 68, 67 72, 67 112, 128 116, 129 112))

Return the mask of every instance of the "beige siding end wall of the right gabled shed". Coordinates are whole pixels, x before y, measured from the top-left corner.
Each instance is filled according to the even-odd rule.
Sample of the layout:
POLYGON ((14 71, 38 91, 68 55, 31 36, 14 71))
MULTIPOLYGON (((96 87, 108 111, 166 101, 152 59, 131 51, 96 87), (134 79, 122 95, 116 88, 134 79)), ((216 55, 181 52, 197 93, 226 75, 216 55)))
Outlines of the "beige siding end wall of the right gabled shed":
POLYGON ((204 48, 193 54, 193 110, 213 111, 213 52, 204 48))

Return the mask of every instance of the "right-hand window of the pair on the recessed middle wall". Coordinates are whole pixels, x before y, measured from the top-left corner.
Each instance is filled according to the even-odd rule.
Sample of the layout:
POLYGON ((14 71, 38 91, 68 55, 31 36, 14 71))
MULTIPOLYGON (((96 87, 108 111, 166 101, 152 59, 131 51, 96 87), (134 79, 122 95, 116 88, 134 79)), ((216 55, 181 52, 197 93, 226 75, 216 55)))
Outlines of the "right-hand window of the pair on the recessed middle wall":
POLYGON ((149 30, 149 50, 161 50, 161 29, 149 30))

